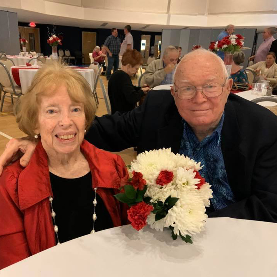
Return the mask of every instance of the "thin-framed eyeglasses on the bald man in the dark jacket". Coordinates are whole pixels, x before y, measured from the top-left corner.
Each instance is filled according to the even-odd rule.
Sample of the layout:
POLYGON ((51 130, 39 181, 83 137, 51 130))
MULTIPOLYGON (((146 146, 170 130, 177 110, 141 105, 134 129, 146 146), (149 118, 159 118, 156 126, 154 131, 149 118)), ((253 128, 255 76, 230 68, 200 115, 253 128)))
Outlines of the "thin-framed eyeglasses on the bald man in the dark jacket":
POLYGON ((202 90, 202 93, 208 98, 214 98, 222 94, 223 86, 225 86, 226 80, 227 78, 225 79, 223 85, 218 83, 213 83, 213 84, 207 84, 199 89, 197 89, 195 86, 182 86, 176 90, 175 89, 176 85, 174 84, 174 91, 177 93, 178 98, 181 100, 190 100, 194 98, 197 90, 202 90))

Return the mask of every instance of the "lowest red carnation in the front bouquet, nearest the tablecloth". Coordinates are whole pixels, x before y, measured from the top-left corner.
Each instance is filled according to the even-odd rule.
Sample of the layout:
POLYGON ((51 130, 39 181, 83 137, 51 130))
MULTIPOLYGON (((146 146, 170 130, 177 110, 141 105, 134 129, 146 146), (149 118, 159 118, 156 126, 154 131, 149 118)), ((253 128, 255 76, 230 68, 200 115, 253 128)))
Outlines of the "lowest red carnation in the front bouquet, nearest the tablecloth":
POLYGON ((142 229, 147 224, 146 219, 151 211, 153 211, 153 207, 145 202, 140 202, 132 206, 127 211, 128 219, 130 220, 132 227, 137 231, 142 229))

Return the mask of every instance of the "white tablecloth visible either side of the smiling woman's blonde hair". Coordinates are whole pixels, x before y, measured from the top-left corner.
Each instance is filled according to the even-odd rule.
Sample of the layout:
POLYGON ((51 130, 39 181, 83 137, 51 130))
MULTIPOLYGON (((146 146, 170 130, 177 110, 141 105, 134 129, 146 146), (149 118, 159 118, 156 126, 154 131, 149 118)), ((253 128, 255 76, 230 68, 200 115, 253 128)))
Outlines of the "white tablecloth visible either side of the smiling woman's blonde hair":
MULTIPOLYGON (((13 66, 11 67, 13 68, 13 66)), ((83 75, 83 77, 87 80, 87 82, 90 84, 91 90, 94 89, 94 80, 95 80, 95 74, 94 74, 94 70, 93 69, 88 69, 88 68, 77 68, 75 69, 77 70, 79 73, 81 73, 83 75)), ((31 82, 34 78, 34 75, 36 74, 36 72, 38 71, 38 69, 19 69, 19 78, 20 78, 20 83, 21 83, 21 89, 22 89, 22 94, 25 94, 26 91, 28 90, 28 87, 31 85, 31 82)), ((13 76, 11 71, 10 71, 10 75, 11 77, 13 76)), ((14 82, 15 84, 15 82, 14 82)))

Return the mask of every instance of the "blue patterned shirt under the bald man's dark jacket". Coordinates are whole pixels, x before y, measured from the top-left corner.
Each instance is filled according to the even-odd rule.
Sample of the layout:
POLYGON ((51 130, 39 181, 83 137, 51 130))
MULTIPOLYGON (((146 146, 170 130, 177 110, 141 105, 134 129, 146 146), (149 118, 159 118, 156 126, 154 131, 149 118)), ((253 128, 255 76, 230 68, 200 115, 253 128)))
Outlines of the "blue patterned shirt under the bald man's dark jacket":
POLYGON ((199 173, 206 179, 206 182, 210 183, 213 190, 212 206, 217 211, 234 203, 234 195, 228 183, 220 147, 224 113, 216 130, 201 142, 199 142, 187 122, 182 121, 184 131, 179 153, 194 159, 196 162, 201 162, 201 165, 204 166, 199 170, 199 173))

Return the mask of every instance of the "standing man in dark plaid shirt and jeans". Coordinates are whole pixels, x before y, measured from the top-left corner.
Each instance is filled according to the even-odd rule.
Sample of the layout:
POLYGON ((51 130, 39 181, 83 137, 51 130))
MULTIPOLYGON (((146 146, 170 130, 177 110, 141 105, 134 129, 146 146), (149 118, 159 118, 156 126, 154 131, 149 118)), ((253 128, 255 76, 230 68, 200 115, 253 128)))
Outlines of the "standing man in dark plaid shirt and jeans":
POLYGON ((108 36, 104 42, 104 46, 108 53, 108 67, 106 69, 107 80, 110 79, 111 70, 114 67, 114 71, 118 69, 119 57, 118 53, 120 51, 120 39, 118 38, 118 33, 116 28, 111 29, 111 35, 108 36))

